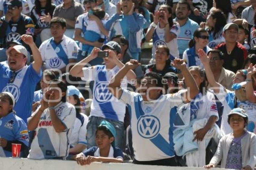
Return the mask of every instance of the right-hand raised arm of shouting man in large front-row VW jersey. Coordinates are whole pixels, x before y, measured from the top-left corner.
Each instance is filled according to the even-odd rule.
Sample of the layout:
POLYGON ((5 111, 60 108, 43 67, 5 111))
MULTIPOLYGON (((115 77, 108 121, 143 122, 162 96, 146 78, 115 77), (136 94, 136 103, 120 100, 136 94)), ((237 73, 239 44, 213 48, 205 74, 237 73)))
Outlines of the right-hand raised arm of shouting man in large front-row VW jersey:
POLYGON ((183 59, 174 59, 171 65, 179 69, 186 80, 185 83, 188 90, 185 92, 186 94, 183 95, 183 102, 188 103, 194 99, 199 92, 195 79, 190 74, 183 59))

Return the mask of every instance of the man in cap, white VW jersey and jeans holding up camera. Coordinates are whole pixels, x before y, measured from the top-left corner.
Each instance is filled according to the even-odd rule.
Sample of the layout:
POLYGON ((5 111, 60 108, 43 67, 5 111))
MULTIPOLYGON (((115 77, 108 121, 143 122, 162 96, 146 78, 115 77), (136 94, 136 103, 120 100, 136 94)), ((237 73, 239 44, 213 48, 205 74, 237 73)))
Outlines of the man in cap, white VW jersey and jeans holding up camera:
MULTIPOLYGON (((98 56, 100 49, 94 47, 88 57, 74 65, 70 70, 70 74, 76 77, 83 77, 82 80, 94 80, 92 91, 93 100, 86 135, 88 148, 96 146, 95 131, 102 120, 107 120, 115 127, 117 132, 115 144, 116 147, 122 148, 125 104, 115 99, 107 88, 111 78, 124 66, 119 60, 121 47, 117 42, 110 41, 105 44, 102 49, 108 54, 108 56, 103 57, 105 65, 84 67, 88 62, 98 56)), ((128 80, 136 79, 136 75, 133 71, 129 71, 126 77, 128 80)), ((125 81, 122 83, 123 88, 127 87, 127 79, 125 78, 125 81)))

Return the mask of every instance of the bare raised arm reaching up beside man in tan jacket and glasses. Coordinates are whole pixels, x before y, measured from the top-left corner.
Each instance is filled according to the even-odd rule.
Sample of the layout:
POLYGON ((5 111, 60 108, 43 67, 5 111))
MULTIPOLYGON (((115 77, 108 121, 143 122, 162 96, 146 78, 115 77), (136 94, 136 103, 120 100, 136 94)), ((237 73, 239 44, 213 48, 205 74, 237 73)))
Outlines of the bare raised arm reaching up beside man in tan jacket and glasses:
POLYGON ((211 71, 211 67, 209 64, 210 58, 206 55, 206 53, 202 49, 198 50, 198 56, 199 56, 201 63, 204 65, 204 70, 205 70, 205 74, 206 74, 208 83, 213 88, 214 93, 219 93, 220 92, 220 84, 216 82, 214 75, 211 71))

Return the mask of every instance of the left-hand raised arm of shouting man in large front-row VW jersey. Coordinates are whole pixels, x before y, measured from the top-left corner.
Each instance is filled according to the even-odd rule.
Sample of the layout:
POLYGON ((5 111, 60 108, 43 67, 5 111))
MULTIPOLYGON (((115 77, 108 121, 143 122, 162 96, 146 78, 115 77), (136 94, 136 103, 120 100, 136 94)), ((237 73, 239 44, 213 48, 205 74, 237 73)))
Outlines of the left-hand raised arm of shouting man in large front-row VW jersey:
POLYGON ((120 91, 120 86, 123 77, 128 73, 128 71, 135 69, 139 65, 140 63, 137 60, 130 60, 130 62, 127 62, 125 66, 121 68, 121 70, 119 70, 117 74, 111 79, 110 83, 108 84, 108 90, 117 99, 119 99, 122 94, 122 92, 120 91))

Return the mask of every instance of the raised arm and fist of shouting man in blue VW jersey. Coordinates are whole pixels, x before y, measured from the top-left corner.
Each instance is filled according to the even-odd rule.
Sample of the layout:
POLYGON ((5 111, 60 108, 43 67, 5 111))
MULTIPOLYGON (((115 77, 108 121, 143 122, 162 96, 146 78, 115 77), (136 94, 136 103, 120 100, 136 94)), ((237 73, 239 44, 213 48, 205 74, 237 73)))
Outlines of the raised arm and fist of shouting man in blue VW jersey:
POLYGON ((21 35, 21 40, 30 46, 30 49, 33 54, 33 59, 34 59, 32 66, 33 66, 34 70, 37 73, 39 73, 41 71, 43 60, 42 60, 42 57, 41 57, 41 54, 40 54, 38 48, 36 47, 36 44, 33 41, 32 35, 23 34, 23 35, 21 35))

